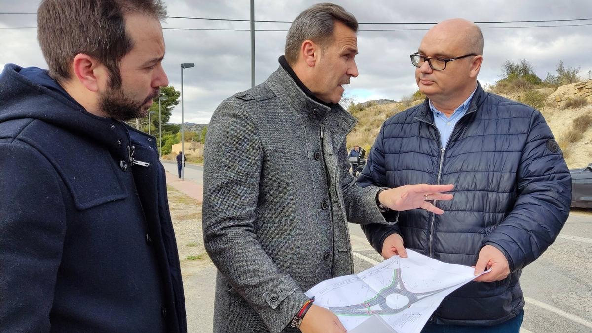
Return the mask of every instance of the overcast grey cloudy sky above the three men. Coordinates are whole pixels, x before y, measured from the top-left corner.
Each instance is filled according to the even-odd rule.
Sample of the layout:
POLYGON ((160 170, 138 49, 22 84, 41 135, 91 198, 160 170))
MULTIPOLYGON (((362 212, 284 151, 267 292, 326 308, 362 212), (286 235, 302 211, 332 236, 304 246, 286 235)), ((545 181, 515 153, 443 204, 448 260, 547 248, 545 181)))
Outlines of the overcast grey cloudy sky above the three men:
MULTIPOLYGON (((40 1, 0 0, 0 12, 36 12, 40 1)), ((292 21, 312 0, 255 0, 255 20, 292 21)), ((438 22, 461 17, 471 21, 531 21, 592 18, 590 0, 487 0, 487 1, 334 1, 352 12, 361 23, 438 22)), ((169 16, 230 18, 249 20, 249 0, 165 1, 169 16)), ((522 58, 535 66, 544 79, 555 72, 559 60, 566 66, 580 67, 580 76, 588 78, 592 69, 592 25, 516 28, 525 25, 592 24, 592 20, 559 23, 480 24, 485 36, 484 63, 479 80, 493 84, 500 78, 505 60, 522 58), (511 28, 486 28, 511 27, 511 28)), ((35 27, 35 15, 0 14, 0 27, 35 27)), ((368 25, 368 29, 427 29, 432 25, 368 25)), ((256 29, 287 30, 288 23, 256 23, 256 29)), ((183 20, 168 18, 163 28, 238 28, 248 22, 183 20)), ((390 98, 399 100, 417 90, 414 67, 409 55, 417 51, 424 30, 360 31, 359 76, 346 86, 346 95, 356 101, 390 98)), ((37 43, 36 29, 0 29, 0 65, 46 68, 37 43)), ((182 62, 195 63, 184 70, 185 121, 207 123, 215 107, 235 92, 250 88, 249 31, 164 30, 166 55, 163 66, 169 84, 181 89, 182 62)), ((256 84, 278 68, 284 53, 286 31, 256 31, 256 84)), ((181 122, 181 104, 170 119, 181 122)))

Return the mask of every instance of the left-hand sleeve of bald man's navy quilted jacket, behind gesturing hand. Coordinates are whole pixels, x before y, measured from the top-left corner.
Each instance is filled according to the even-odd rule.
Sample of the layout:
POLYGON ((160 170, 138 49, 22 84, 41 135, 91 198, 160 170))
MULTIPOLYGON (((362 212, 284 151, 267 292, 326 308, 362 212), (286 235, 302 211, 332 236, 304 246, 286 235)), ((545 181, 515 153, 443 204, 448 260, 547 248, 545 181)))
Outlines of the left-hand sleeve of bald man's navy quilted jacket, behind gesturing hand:
MULTIPOLYGON (((387 187, 385 161, 384 161, 384 144, 382 143, 382 136, 384 135, 384 124, 378 133, 374 147, 366 159, 366 166, 362 170, 362 173, 358 177, 358 185, 360 187, 378 186, 387 187)), ((372 223, 369 225, 362 225, 362 230, 366 235, 366 239, 372 245, 372 247, 382 252, 382 243, 392 233, 400 234, 399 227, 396 224, 398 218, 398 212, 387 212, 384 213, 385 220, 389 225, 381 225, 372 223)))

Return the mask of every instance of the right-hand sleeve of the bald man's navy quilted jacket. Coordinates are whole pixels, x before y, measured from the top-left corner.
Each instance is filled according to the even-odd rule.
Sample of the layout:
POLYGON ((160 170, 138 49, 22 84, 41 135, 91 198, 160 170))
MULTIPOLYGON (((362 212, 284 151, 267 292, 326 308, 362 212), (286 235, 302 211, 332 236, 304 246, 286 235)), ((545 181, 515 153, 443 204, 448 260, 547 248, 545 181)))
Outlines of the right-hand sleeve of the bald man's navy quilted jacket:
POLYGON ((517 200, 483 245, 504 252, 510 271, 538 258, 561 231, 570 213, 571 175, 551 130, 534 110, 517 172, 517 200))

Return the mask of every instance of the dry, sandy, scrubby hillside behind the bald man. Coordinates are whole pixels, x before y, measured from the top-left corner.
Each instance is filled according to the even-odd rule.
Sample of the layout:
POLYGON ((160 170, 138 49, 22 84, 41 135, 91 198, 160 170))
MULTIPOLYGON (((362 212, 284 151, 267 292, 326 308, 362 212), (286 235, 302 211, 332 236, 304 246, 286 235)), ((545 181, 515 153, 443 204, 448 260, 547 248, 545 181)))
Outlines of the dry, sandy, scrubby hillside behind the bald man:
MULTIPOLYGON (((540 112, 549 124, 553 135, 561 145, 565 161, 570 168, 583 168, 592 162, 592 81, 564 85, 554 89, 506 95, 505 97, 527 103, 532 94, 540 99, 540 112), (575 123, 574 123, 575 120, 575 123)), ((420 100, 411 105, 421 103, 420 100)), ((348 135, 348 148, 358 144, 369 151, 382 123, 388 117, 405 110, 409 103, 373 105, 366 102, 349 107, 358 124, 348 135)))

